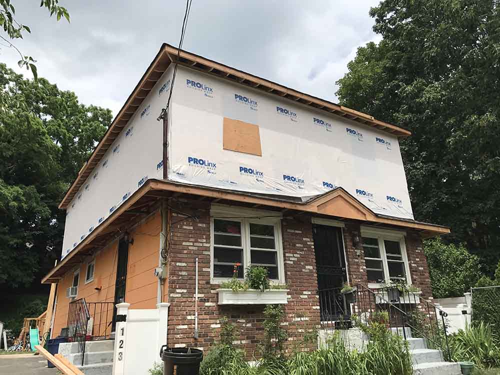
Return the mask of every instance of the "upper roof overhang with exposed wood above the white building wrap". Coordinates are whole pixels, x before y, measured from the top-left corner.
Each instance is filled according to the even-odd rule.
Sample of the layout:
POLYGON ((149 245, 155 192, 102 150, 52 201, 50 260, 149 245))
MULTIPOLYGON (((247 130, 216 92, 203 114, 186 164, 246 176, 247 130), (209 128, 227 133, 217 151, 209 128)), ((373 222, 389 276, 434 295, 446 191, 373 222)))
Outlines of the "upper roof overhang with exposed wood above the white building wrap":
POLYGON ((219 78, 259 89, 269 94, 284 97, 310 106, 316 110, 325 111, 329 114, 334 114, 367 126, 375 127, 395 136, 411 135, 411 132, 408 130, 377 120, 369 114, 358 112, 342 105, 305 94, 292 88, 274 83, 270 80, 260 78, 256 75, 248 74, 244 71, 198 56, 194 53, 184 50, 179 51, 176 47, 164 43, 158 53, 156 53, 156 56, 149 64, 132 93, 128 96, 116 117, 109 125, 106 133, 95 147, 87 162, 81 167, 75 180, 59 203, 59 208, 66 208, 68 206, 80 186, 97 166, 101 158, 104 156, 104 153, 113 143, 114 139, 116 139, 120 131, 126 126, 128 120, 133 116, 149 91, 151 91, 154 87, 154 84, 171 63, 178 63, 179 65, 184 65, 207 74, 215 75, 219 78))

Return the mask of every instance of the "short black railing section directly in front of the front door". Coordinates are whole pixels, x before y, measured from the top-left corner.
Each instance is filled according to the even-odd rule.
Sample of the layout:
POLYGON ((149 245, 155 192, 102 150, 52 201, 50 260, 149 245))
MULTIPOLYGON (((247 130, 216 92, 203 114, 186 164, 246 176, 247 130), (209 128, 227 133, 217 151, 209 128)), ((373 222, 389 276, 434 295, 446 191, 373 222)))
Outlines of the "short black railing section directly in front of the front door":
POLYGON ((324 328, 347 329, 351 327, 349 296, 340 288, 318 290, 319 317, 324 328))

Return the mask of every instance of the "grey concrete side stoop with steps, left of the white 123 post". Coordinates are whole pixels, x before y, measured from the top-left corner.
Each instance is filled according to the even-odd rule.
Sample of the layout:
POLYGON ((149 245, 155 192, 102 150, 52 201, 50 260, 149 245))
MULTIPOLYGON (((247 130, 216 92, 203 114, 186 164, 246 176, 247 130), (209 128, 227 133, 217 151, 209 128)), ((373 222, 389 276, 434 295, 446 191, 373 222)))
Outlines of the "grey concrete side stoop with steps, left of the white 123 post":
POLYGON ((79 368, 112 366, 114 340, 97 340, 85 342, 85 356, 81 364, 81 353, 78 342, 59 344, 59 354, 79 368))

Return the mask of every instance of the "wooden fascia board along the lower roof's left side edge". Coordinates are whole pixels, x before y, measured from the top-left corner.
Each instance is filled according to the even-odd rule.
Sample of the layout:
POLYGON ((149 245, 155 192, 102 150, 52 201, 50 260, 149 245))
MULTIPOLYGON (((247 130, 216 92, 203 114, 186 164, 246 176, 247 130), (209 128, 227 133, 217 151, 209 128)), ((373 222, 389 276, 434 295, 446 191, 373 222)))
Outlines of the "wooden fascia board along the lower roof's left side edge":
POLYGON ((135 203, 142 195, 144 195, 147 191, 151 189, 150 181, 146 181, 137 191, 135 191, 124 203, 122 203, 118 208, 111 213, 99 226, 97 226, 89 235, 87 235, 83 241, 78 243, 78 245, 62 259, 62 261, 57 264, 54 268, 50 270, 42 279, 41 283, 47 282, 48 279, 51 279, 51 275, 54 274, 57 270, 59 270, 62 266, 67 264, 74 256, 78 255, 80 250, 89 244, 93 239, 99 236, 99 234, 107 229, 111 223, 125 212, 133 203, 135 203))

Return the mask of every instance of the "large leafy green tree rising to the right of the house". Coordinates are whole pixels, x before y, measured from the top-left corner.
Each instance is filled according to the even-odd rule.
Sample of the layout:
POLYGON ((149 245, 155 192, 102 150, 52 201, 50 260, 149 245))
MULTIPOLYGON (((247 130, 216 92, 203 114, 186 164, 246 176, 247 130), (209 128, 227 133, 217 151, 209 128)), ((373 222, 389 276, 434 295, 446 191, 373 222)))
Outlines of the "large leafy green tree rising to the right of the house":
POLYGON ((337 81, 340 103, 401 125, 415 218, 451 227, 494 272, 500 257, 500 2, 383 0, 378 43, 337 81))

